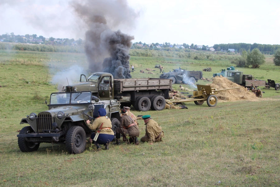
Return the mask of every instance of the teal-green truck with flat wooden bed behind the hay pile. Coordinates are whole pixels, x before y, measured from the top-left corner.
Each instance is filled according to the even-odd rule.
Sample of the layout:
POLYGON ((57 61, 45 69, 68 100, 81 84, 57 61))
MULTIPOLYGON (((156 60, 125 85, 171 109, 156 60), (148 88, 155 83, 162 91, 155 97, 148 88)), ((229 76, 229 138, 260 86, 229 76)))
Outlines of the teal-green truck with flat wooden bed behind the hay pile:
POLYGON ((221 73, 214 73, 213 77, 220 76, 226 77, 227 79, 231 80, 236 84, 240 84, 244 87, 250 87, 251 84, 254 84, 255 87, 258 86, 265 86, 265 80, 257 80, 250 74, 243 74, 242 71, 235 70, 233 66, 227 68, 226 70, 223 69, 221 73))

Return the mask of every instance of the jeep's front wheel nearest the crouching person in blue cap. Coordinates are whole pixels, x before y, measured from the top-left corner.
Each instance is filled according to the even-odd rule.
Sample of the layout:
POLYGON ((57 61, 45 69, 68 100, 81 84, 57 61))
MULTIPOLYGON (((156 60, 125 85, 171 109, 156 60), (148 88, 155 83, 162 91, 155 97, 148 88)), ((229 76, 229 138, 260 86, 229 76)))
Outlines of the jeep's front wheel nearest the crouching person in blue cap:
POLYGON ((82 153, 86 148, 86 132, 80 126, 71 127, 66 133, 66 149, 71 154, 82 153))

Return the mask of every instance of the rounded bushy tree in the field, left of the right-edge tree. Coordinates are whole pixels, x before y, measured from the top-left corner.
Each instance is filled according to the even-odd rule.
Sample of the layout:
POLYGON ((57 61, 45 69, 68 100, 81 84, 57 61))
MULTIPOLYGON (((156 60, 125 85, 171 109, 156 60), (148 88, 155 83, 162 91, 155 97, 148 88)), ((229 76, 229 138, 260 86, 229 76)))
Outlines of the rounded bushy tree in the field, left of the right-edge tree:
POLYGON ((248 55, 247 55, 247 64, 252 65, 252 68, 259 68, 260 65, 264 64, 265 56, 262 54, 258 48, 254 48, 248 55))

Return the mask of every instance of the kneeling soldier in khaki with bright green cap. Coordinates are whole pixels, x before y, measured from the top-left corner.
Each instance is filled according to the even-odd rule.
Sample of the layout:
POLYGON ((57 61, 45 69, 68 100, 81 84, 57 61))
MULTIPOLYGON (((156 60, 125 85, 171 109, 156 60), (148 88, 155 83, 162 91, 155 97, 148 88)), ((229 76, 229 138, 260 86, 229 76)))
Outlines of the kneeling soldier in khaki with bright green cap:
POLYGON ((158 123, 152 120, 150 115, 145 115, 142 118, 144 119, 146 125, 146 134, 141 138, 141 141, 149 142, 150 145, 154 142, 162 141, 164 133, 158 123))

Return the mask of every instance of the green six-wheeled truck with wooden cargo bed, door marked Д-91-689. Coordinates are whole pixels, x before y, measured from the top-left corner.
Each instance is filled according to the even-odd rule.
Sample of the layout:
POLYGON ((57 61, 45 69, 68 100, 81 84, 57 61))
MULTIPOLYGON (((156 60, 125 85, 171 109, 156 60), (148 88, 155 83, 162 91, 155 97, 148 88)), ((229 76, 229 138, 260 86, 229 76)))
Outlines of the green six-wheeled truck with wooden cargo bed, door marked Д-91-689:
POLYGON ((79 83, 64 86, 63 91, 91 91, 100 100, 116 99, 122 106, 148 111, 163 110, 171 88, 170 79, 114 79, 110 73, 97 72, 87 78, 81 74, 79 83))

